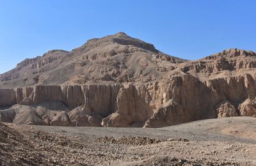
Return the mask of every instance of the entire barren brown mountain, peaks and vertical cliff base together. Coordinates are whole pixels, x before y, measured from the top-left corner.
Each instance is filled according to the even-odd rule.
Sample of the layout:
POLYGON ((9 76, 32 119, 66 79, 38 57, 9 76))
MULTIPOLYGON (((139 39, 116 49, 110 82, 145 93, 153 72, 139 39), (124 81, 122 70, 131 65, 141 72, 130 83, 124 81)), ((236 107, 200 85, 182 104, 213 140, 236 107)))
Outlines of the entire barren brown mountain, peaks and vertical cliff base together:
POLYGON ((256 54, 228 49, 196 61, 117 33, 51 50, 0 75, 0 121, 161 127, 256 116, 256 54))

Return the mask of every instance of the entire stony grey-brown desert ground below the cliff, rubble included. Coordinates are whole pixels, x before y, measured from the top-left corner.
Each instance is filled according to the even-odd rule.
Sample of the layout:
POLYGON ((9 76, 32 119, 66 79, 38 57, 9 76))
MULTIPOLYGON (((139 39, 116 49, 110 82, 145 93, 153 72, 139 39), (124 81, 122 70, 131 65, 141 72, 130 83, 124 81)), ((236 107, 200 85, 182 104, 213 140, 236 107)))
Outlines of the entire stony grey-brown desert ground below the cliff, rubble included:
POLYGON ((1 124, 0 165, 256 165, 256 119, 164 128, 1 124))

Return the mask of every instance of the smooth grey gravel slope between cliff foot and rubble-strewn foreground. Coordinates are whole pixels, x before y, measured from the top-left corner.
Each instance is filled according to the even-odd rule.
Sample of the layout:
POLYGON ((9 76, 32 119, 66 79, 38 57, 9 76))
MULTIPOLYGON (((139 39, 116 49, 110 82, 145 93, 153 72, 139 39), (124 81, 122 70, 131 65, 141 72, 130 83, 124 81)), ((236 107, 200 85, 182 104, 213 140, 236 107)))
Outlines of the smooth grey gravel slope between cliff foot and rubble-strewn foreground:
MULTIPOLYGON (((248 124, 240 128, 241 131, 249 130, 253 135, 256 128, 256 119, 253 117, 227 117, 221 119, 207 119, 194 121, 164 128, 103 128, 103 127, 65 127, 65 126, 33 126, 36 130, 43 130, 53 133, 65 133, 67 135, 76 135, 83 139, 96 139, 106 135, 108 137, 122 137, 123 135, 153 137, 168 139, 170 137, 179 137, 188 140, 204 141, 231 141, 256 143, 251 138, 239 137, 239 135, 227 135, 221 133, 223 128, 232 126, 237 129, 242 124, 248 124), (252 130, 250 130, 252 129, 252 130)), ((238 133, 238 132, 237 132, 238 133)))

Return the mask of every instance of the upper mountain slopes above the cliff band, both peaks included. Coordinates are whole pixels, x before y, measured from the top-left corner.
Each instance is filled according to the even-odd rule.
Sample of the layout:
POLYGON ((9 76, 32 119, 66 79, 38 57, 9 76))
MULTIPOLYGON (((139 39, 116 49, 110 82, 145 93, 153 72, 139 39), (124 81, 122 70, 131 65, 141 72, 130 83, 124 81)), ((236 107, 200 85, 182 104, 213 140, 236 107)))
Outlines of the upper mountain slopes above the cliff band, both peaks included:
POLYGON ((179 69, 204 80, 211 73, 255 68, 255 57, 252 51, 228 49, 204 59, 186 61, 120 32, 88 40, 71 52, 51 50, 43 56, 26 59, 0 75, 0 86, 144 84, 175 75, 179 69))

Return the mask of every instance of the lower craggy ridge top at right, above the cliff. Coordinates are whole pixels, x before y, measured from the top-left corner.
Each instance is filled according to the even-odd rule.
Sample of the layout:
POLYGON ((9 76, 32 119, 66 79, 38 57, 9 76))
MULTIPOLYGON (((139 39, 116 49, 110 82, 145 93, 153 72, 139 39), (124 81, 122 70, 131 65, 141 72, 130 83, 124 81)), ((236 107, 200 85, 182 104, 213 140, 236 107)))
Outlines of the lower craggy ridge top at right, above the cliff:
MULTIPOLYGON (((247 50, 228 49, 203 59, 188 61, 180 64, 180 66, 182 66, 182 71, 186 73, 220 73, 226 71, 225 74, 227 74, 227 71, 239 72, 240 70, 255 68, 256 54, 247 50)), ((201 75, 200 77, 204 80, 208 76, 201 75)))

